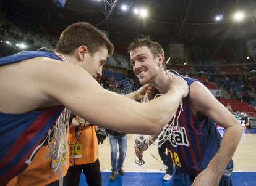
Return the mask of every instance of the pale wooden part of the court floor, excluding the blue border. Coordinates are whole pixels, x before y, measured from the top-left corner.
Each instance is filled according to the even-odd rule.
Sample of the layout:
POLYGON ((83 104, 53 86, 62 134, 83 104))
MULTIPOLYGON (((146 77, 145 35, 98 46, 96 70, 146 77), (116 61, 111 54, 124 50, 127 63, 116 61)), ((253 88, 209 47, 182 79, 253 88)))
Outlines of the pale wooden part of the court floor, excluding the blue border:
MULTIPOLYGON (((132 172, 158 172, 162 165, 160 156, 156 146, 151 145, 150 150, 153 156, 156 156, 158 160, 153 158, 150 150, 143 152, 143 156, 146 163, 143 166, 137 166, 135 164, 134 153, 134 141, 135 135, 127 135, 127 153, 126 160, 124 161, 124 170, 132 172)), ((233 156, 234 171, 256 171, 256 134, 243 134, 242 139, 237 147, 236 153, 233 156)), ((108 137, 100 144, 100 166, 101 171, 111 170, 110 161, 110 145, 108 137)))

